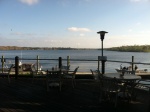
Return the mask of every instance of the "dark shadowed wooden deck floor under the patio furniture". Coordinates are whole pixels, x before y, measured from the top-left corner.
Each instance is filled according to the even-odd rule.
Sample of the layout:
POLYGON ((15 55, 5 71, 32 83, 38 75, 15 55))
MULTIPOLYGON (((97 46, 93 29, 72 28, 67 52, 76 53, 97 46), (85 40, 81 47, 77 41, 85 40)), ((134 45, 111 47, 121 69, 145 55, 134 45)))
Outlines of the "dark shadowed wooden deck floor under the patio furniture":
POLYGON ((98 84, 77 79, 73 89, 64 81, 62 91, 46 91, 45 79, 0 78, 0 112, 148 112, 148 94, 140 91, 136 101, 118 103, 117 110, 107 101, 99 102, 98 84))

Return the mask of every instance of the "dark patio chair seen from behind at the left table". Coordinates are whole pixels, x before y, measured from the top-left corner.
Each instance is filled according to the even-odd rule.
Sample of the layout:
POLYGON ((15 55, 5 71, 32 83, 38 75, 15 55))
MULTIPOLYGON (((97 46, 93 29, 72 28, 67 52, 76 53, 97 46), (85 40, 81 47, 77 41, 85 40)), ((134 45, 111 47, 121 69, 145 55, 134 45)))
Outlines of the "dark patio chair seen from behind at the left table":
POLYGON ((48 71, 46 75, 46 86, 47 91, 49 91, 50 87, 59 87, 59 91, 61 91, 62 88, 62 72, 59 71, 48 71))

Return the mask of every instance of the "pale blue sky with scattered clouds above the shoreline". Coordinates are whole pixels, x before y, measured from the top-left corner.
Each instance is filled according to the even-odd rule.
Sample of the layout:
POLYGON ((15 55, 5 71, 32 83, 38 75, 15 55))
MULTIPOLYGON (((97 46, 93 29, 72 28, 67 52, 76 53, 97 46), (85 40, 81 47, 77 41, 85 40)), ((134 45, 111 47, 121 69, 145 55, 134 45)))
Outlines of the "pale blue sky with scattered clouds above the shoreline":
POLYGON ((0 46, 149 45, 150 0, 0 0, 0 46))

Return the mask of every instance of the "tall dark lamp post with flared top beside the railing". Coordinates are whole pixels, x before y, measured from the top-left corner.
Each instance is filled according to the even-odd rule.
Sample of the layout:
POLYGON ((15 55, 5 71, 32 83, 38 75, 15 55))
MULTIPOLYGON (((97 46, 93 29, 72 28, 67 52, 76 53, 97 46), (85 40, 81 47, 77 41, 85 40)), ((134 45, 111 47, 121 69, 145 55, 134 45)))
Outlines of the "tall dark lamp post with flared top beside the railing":
POLYGON ((106 31, 99 31, 99 32, 97 32, 97 34, 100 34, 100 39, 102 41, 102 49, 101 49, 101 51, 102 51, 102 56, 101 56, 102 74, 105 73, 105 61, 107 60, 107 57, 103 56, 103 40, 104 40, 104 37, 105 37, 105 33, 108 33, 108 32, 106 32, 106 31))

